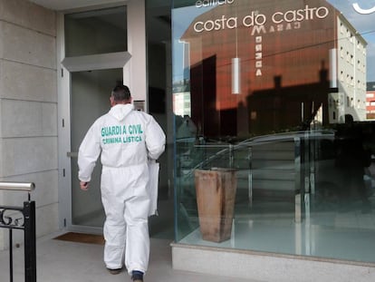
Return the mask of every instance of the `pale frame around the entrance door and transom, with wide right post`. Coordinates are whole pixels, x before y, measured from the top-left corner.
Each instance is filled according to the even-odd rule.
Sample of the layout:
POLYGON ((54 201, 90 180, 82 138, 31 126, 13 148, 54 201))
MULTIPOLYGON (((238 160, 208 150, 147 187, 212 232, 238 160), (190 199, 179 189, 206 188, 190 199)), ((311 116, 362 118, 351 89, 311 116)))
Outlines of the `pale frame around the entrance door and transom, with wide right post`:
MULTIPOLYGON (((57 92, 58 92, 58 199, 59 229, 101 234, 102 228, 72 225, 71 170, 71 73, 85 70, 122 68, 123 82, 128 85, 134 101, 147 111, 146 15, 144 0, 120 1, 127 6, 128 51, 80 57, 65 57, 64 14, 58 13, 56 24, 57 92)), ((107 6, 101 6, 105 8, 107 6)), ((96 6, 95 9, 98 9, 96 6)), ((87 9, 89 11, 90 8, 87 9)), ((80 10, 80 12, 82 9, 80 10)), ((74 11, 69 11, 72 13, 74 11)))

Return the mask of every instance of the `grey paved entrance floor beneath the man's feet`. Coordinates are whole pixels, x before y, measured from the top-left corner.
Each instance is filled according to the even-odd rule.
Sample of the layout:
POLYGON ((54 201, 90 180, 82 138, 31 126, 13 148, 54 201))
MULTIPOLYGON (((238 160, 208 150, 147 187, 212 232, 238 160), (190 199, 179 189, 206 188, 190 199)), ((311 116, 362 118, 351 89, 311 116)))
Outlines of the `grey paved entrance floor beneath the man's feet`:
MULTIPOLYGON (((131 281, 127 273, 113 276, 102 263, 101 245, 72 243, 53 239, 60 234, 40 238, 36 244, 38 282, 116 282, 131 281)), ((145 282, 230 282, 233 277, 216 277, 172 269, 168 239, 151 239, 149 271, 145 282)), ((14 249, 14 282, 24 281, 23 248, 14 249)), ((0 281, 9 281, 9 252, 0 251, 0 281)), ((236 278, 237 282, 256 282, 236 278)))

